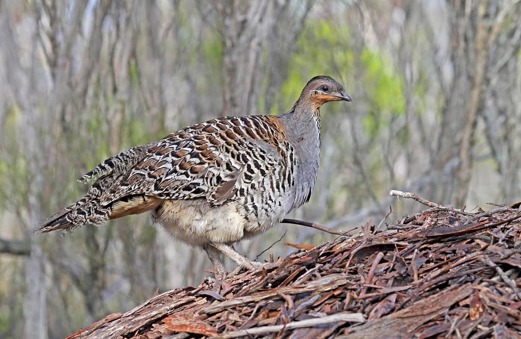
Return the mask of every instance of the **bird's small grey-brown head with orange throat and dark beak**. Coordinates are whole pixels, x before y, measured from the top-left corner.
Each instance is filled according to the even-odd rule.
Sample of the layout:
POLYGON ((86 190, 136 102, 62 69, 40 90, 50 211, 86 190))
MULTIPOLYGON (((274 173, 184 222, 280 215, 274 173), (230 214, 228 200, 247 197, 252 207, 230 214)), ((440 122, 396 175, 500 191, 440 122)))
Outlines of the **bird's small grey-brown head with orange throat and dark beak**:
POLYGON ((344 92, 344 87, 328 76, 316 76, 309 80, 301 98, 307 99, 317 109, 330 101, 351 101, 351 97, 344 92))

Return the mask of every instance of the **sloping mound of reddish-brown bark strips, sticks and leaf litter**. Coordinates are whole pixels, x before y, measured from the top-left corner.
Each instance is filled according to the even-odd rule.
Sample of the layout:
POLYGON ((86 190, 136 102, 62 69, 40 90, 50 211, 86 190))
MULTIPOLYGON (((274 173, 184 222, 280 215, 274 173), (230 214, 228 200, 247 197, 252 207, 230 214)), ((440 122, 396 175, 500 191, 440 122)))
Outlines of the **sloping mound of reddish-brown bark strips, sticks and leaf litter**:
POLYGON ((521 337, 519 204, 367 224, 221 282, 157 295, 69 338, 521 337))

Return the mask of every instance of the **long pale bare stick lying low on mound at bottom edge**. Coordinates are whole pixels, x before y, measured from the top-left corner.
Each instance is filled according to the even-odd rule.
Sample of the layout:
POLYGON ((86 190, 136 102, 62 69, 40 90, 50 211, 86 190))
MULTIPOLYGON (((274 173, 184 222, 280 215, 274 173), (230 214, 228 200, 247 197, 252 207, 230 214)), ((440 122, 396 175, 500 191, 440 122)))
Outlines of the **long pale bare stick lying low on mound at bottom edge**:
POLYGON ((313 327, 317 325, 324 325, 330 323, 336 323, 340 321, 349 321, 349 322, 365 322, 365 317, 362 313, 337 313, 335 315, 326 316, 322 318, 313 318, 306 319, 302 321, 293 321, 289 322, 286 325, 272 325, 272 326, 262 326, 257 328, 251 328, 247 330, 239 330, 229 332, 223 335, 216 336, 216 339, 226 339, 226 338, 237 338, 240 336, 249 336, 253 334, 263 334, 263 333, 272 333, 279 332, 280 330, 292 330, 299 329, 304 327, 313 327))

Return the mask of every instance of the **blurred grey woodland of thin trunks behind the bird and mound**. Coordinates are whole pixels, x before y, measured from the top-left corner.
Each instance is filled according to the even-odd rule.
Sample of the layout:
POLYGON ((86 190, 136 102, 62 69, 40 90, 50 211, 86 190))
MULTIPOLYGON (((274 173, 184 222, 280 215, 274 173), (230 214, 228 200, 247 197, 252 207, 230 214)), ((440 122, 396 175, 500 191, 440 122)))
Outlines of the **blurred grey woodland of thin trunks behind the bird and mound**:
MULTIPOLYGON (((292 217, 346 230, 420 208, 390 189, 516 202, 520 14, 518 0, 0 0, 0 337, 63 337, 201 282, 204 253, 148 216, 31 230, 106 157, 218 116, 279 114, 318 74, 353 103, 322 108, 318 182, 292 217)), ((254 258, 285 230, 331 239, 278 225, 238 250, 254 258)))

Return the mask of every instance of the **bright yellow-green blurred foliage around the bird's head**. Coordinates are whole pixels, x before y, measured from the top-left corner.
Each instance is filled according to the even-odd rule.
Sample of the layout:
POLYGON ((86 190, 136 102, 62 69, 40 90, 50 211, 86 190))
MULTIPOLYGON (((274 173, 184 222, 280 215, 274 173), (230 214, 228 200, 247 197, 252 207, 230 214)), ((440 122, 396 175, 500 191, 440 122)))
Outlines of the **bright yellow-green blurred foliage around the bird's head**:
POLYGON ((355 68, 362 78, 357 83, 364 84, 364 99, 371 107, 370 114, 364 118, 368 133, 374 135, 380 127, 386 127, 392 115, 403 114, 406 109, 403 79, 393 71, 385 56, 367 47, 363 48, 361 55, 356 55, 345 41, 349 36, 347 24, 333 25, 328 20, 308 21, 304 33, 296 42, 299 53, 292 56, 288 78, 280 91, 279 101, 283 107, 274 105, 270 114, 278 114, 291 107, 310 74, 331 74, 340 79, 349 92, 352 86, 349 79, 354 78, 355 68))

